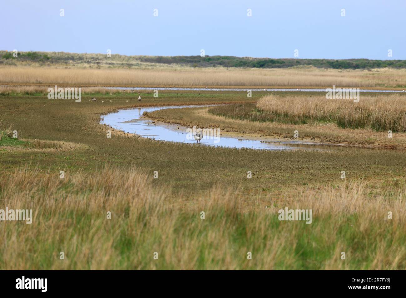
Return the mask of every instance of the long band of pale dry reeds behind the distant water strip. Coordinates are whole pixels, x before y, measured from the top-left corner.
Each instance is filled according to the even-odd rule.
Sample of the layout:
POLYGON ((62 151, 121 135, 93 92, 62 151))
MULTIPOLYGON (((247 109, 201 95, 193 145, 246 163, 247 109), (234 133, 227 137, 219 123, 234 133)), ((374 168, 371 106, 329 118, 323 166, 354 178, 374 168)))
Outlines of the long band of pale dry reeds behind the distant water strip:
POLYGON ((2 67, 0 84, 67 86, 406 86, 406 70, 334 69, 63 69, 2 67))

